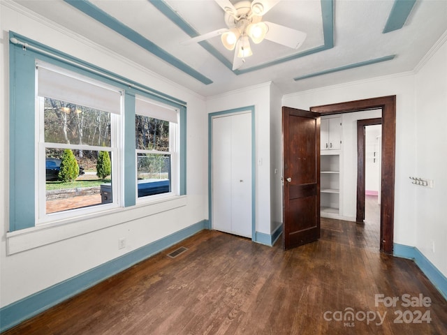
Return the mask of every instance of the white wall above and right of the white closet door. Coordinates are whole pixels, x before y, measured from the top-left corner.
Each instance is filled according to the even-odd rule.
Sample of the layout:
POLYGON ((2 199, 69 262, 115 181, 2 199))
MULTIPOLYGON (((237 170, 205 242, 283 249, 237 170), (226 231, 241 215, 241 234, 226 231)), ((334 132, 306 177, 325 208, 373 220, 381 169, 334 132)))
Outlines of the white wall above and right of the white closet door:
POLYGON ((270 234, 270 82, 207 98, 206 109, 213 113, 251 105, 256 127, 256 232, 270 234))

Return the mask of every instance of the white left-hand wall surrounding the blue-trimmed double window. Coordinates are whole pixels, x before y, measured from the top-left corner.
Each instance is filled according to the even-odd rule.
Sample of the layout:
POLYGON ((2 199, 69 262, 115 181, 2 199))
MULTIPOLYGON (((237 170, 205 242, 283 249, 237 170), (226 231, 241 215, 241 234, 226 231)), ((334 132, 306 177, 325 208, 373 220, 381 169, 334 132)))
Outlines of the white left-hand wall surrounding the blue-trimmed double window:
POLYGON ((124 253, 166 237, 207 219, 207 117, 205 101, 188 89, 131 63, 111 50, 104 50, 71 31, 41 20, 20 9, 15 3, 0 4, 0 306, 22 299, 56 283, 102 265, 124 253), (89 234, 6 255, 8 224, 9 166, 9 77, 8 31, 37 40, 44 45, 105 68, 130 80, 174 96, 188 104, 186 205, 152 216, 146 209, 128 209, 129 216, 142 213, 140 218, 127 222, 124 215, 97 218, 97 221, 119 220, 116 225, 89 234), (123 219, 121 219, 123 218, 123 219), (117 241, 126 238, 126 248, 118 250, 117 241))

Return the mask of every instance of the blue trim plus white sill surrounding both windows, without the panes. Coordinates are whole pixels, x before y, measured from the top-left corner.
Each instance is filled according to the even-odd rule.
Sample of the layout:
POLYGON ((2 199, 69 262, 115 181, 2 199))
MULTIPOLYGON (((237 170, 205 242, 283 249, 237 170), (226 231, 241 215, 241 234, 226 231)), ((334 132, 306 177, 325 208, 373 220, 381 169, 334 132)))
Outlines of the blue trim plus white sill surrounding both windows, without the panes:
MULTIPOLYGON (((69 237, 78 236, 108 226, 116 225, 126 221, 130 216, 137 219, 146 216, 148 213, 156 214, 161 211, 174 209, 186 204, 186 103, 177 98, 168 96, 159 91, 146 87, 138 82, 133 82, 111 73, 108 70, 99 68, 80 59, 59 52, 51 47, 31 40, 13 31, 9 32, 9 60, 10 60, 10 210, 9 210, 9 231, 6 234, 8 255, 29 248, 35 248, 54 241, 60 241, 69 237), (12 42, 19 40, 19 42, 12 42), (26 47, 24 47, 26 45, 26 47), (122 149, 118 150, 119 158, 115 163, 122 166, 119 175, 115 177, 114 183, 120 183, 121 198, 120 207, 105 210, 104 206, 96 206, 91 214, 82 213, 67 218, 58 218, 53 221, 45 221, 40 224, 36 220, 36 196, 38 196, 39 176, 36 172, 39 164, 39 144, 36 139, 36 125, 40 124, 38 114, 36 114, 36 75, 35 64, 40 59, 48 64, 59 66, 68 71, 73 71, 79 75, 98 80, 113 87, 122 89, 122 138, 119 139, 122 149), (135 95, 148 96, 155 101, 162 101, 166 105, 178 108, 179 110, 179 191, 173 198, 161 199, 149 203, 136 203, 135 201, 135 95), (33 143, 34 142, 34 143, 33 143), (34 167, 34 172, 27 172, 26 167, 34 167), (138 209, 141 206, 149 206, 144 211, 136 210, 129 212, 129 209, 138 209), (98 209, 98 210, 96 210, 98 209), (126 214, 119 214, 120 212, 126 214), (118 214, 108 222, 96 224, 95 218, 118 214), (92 221, 93 220, 93 221, 92 221), (124 221, 122 221, 124 220, 124 221), (87 227, 85 224, 89 222, 87 227), (71 225, 70 223, 76 223, 71 225), (68 224, 68 225, 67 225, 68 224), (54 229, 54 232, 47 230, 54 229)), ((41 149, 40 149, 41 150, 41 149)), ((41 157, 44 155, 40 154, 41 157)), ((43 163, 45 166, 45 163, 43 163)), ((114 169, 117 172, 117 169, 114 169)), ((41 173, 41 172, 40 172, 41 173)), ((45 177, 43 177, 45 180, 45 177)), ((115 194, 117 194, 115 192, 115 194)), ((110 217, 112 218, 112 217, 110 217)))

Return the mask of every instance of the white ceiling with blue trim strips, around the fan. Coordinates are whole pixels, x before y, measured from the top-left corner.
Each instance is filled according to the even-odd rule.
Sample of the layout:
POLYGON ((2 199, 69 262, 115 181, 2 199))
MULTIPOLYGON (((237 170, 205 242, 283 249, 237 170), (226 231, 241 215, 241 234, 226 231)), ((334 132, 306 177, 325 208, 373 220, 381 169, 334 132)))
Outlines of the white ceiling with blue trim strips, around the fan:
POLYGON ((304 31, 305 43, 298 50, 269 40, 251 43, 253 56, 233 71, 233 52, 219 36, 182 44, 226 28, 214 0, 15 2, 202 96, 269 81, 291 94, 402 73, 413 70, 447 31, 446 0, 416 1, 408 17, 392 8, 411 8, 411 0, 281 0, 263 20, 304 31), (402 15, 403 27, 384 34, 387 21, 402 15))

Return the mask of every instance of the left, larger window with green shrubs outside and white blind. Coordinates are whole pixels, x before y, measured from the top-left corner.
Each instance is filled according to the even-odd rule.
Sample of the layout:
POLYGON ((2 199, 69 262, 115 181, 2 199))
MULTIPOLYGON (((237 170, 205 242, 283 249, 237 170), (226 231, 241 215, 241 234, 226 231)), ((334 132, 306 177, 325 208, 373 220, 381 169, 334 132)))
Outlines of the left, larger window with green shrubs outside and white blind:
POLYGON ((38 223, 116 206, 121 92, 49 64, 36 72, 38 223))

